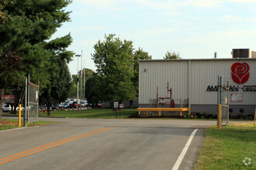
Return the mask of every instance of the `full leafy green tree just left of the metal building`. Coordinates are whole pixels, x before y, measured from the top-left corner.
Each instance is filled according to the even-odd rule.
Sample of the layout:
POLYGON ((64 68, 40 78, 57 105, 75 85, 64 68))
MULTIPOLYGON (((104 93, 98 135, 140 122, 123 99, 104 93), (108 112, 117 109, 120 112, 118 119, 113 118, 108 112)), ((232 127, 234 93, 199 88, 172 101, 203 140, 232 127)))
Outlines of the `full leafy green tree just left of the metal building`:
POLYGON ((110 34, 97 42, 92 54, 99 77, 99 99, 104 101, 133 100, 133 42, 110 34))

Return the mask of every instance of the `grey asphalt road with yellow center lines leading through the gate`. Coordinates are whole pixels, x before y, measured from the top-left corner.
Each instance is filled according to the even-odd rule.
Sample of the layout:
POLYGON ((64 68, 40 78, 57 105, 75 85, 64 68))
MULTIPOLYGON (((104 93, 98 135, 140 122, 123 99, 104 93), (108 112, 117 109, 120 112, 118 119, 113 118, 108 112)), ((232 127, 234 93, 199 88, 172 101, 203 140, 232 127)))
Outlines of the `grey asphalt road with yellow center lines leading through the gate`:
POLYGON ((155 119, 40 120, 64 123, 0 131, 0 169, 172 169, 175 162, 181 162, 176 163, 178 169, 193 169, 204 129, 216 124, 155 119))

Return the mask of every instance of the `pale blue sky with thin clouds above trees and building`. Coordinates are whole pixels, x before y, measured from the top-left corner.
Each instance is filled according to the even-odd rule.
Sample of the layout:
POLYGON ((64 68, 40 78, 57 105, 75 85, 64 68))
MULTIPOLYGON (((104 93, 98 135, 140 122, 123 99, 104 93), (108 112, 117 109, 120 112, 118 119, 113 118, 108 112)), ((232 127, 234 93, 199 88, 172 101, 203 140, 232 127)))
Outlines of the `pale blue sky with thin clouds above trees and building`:
MULTIPOLYGON (((105 35, 133 41, 152 59, 167 51, 183 59, 231 58, 232 49, 256 51, 256 0, 73 0, 65 8, 70 22, 54 37, 67 35, 68 50, 82 55, 82 67, 96 70, 94 45, 105 35)), ((81 57, 68 64, 81 70, 81 57), (79 60, 78 60, 79 59, 79 60)))

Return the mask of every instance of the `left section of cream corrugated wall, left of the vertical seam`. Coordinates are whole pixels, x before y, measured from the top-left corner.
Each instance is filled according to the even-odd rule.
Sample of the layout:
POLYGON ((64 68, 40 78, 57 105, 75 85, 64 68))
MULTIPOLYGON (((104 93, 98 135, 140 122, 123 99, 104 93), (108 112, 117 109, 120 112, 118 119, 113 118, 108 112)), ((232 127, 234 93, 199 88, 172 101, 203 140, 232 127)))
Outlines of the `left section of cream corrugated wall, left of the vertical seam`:
POLYGON ((187 61, 140 63, 139 104, 149 104, 150 99, 170 97, 167 87, 172 88, 172 98, 187 99, 189 83, 187 61))

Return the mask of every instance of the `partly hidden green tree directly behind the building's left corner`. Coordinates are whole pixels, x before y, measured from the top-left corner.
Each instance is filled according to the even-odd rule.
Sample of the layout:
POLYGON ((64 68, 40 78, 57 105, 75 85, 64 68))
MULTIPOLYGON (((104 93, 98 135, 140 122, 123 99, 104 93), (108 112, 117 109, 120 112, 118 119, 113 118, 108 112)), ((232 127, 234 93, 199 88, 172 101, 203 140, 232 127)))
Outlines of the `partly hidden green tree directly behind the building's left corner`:
POLYGON ((133 86, 136 89, 136 93, 138 95, 139 93, 139 60, 140 59, 152 59, 152 56, 150 56, 147 52, 144 52, 143 49, 138 49, 133 53, 133 86))

